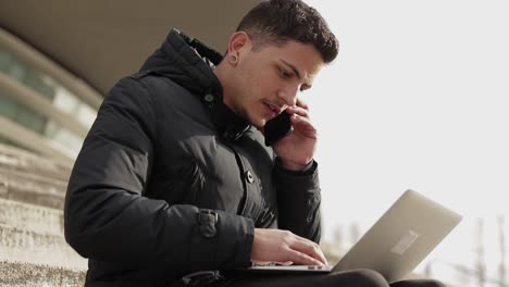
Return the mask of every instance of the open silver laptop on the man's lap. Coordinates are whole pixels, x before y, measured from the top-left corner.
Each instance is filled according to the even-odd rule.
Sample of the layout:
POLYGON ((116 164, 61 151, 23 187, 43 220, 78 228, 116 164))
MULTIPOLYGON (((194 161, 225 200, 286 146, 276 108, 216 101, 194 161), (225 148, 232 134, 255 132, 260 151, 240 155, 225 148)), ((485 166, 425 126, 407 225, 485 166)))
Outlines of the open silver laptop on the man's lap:
POLYGON ((350 248, 335 266, 262 265, 246 269, 266 273, 326 273, 371 269, 389 283, 405 278, 455 228, 462 216, 407 190, 350 248))

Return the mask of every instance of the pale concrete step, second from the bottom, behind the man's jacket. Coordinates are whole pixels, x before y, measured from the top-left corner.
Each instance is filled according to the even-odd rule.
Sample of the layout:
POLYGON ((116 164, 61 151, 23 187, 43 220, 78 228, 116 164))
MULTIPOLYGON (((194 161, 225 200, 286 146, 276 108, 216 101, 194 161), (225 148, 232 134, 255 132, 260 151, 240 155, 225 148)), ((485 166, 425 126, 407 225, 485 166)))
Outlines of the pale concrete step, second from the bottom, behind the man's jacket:
POLYGON ((76 253, 62 235, 40 234, 8 225, 0 225, 0 261, 87 269, 87 260, 76 253))

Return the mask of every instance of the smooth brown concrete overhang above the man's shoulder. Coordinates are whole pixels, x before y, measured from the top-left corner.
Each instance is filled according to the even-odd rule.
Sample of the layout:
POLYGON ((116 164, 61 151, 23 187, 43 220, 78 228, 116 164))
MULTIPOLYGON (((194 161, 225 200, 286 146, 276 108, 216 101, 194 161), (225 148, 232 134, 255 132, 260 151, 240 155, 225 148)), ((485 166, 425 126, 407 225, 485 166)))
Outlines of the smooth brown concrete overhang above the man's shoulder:
POLYGON ((219 51, 259 0, 0 0, 0 27, 100 93, 139 70, 172 27, 219 51))

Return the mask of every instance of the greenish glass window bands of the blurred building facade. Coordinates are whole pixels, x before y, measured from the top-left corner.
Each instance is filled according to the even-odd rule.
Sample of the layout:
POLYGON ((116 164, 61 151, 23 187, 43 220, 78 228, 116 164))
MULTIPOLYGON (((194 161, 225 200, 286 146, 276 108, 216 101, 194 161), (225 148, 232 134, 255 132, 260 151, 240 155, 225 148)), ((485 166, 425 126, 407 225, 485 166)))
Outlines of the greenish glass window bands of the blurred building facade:
MULTIPOLYGON (((55 110, 69 115, 70 121, 78 122, 84 128, 88 129, 94 123, 97 110, 49 75, 30 67, 2 46, 0 46, 0 73, 35 91, 55 110)), ((83 135, 62 127, 51 116, 24 104, 16 95, 12 95, 12 91, 2 85, 0 85, 0 116, 35 132, 45 139, 45 142, 71 159, 75 159, 84 140, 83 135)), ((7 138, 5 135, 0 138, 0 142, 27 149, 23 142, 7 138)))

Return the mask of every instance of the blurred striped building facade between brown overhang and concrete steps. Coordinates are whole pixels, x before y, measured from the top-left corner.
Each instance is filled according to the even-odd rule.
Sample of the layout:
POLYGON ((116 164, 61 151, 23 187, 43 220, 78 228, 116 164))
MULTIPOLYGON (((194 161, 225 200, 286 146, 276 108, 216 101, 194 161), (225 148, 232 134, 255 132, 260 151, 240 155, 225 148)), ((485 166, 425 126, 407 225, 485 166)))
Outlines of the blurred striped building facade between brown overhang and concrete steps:
POLYGON ((0 30, 0 142, 72 164, 102 101, 85 85, 0 30))

